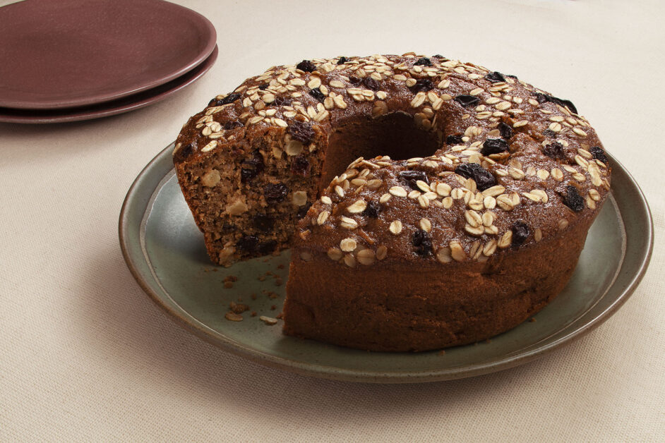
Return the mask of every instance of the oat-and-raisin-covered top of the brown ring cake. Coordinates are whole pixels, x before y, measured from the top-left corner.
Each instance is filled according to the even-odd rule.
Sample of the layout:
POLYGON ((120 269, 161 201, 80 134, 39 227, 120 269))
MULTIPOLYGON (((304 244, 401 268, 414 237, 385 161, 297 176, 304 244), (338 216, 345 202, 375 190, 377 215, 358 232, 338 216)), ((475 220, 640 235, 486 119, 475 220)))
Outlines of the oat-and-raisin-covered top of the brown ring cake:
MULTIPOLYGON (((271 159, 310 178, 316 140, 345 113, 377 119, 395 106, 438 137, 440 149, 403 160, 361 157, 319 200, 284 183, 258 186, 260 205, 299 209, 304 219, 297 238, 322 243, 318 254, 326 260, 347 267, 407 253, 442 264, 487 260, 568 229, 575 217, 596 210, 609 190, 607 155, 572 102, 513 75, 413 53, 272 67, 194 116, 196 134, 178 140, 174 161, 232 149, 253 129, 281 140, 268 151, 271 159), (552 226, 529 218, 530 212, 549 214, 552 226)), ((256 183, 268 167, 265 154, 244 154, 242 183, 256 183)), ((210 189, 221 180, 217 169, 200 176, 210 189)), ((253 210, 241 194, 222 207, 231 218, 253 210)), ((244 236, 227 250, 260 247, 244 236)))

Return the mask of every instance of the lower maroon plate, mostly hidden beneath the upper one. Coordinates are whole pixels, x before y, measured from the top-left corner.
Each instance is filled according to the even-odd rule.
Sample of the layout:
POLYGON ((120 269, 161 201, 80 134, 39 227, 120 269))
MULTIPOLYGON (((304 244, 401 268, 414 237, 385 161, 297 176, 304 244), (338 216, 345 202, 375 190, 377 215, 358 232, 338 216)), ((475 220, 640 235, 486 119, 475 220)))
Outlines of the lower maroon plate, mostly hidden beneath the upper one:
POLYGON ((181 90, 182 88, 190 85, 195 80, 200 78, 210 70, 212 65, 217 60, 217 47, 212 51, 212 54, 200 63, 192 71, 185 75, 171 80, 169 83, 157 86, 151 90, 139 92, 136 95, 123 97, 113 102, 97 104, 90 107, 78 107, 69 109, 8 109, 0 108, 0 121, 6 123, 61 123, 64 121, 80 121, 99 119, 100 117, 113 116, 115 114, 122 114, 123 112, 133 111, 160 102, 161 100, 169 97, 181 90))

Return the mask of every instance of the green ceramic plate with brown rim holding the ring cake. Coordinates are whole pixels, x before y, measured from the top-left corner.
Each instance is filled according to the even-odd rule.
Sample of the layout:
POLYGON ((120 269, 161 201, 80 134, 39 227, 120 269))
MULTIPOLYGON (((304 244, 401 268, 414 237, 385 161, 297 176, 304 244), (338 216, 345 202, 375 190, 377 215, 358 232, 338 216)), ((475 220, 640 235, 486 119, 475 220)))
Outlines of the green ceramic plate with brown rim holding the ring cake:
POLYGON ((570 283, 535 322, 445 353, 370 353, 295 339, 282 336, 281 322, 268 326, 259 320, 282 309, 289 253, 229 268, 211 265, 180 193, 172 149, 145 166, 127 193, 119 230, 129 269, 152 300, 194 334, 258 363, 300 374, 355 382, 433 382, 520 365, 607 320, 633 293, 651 256, 647 202, 630 174, 611 158, 612 196, 589 231, 570 283), (229 276, 237 281, 225 288, 229 276), (226 320, 232 301, 249 305, 256 317, 245 312, 241 322, 226 320))

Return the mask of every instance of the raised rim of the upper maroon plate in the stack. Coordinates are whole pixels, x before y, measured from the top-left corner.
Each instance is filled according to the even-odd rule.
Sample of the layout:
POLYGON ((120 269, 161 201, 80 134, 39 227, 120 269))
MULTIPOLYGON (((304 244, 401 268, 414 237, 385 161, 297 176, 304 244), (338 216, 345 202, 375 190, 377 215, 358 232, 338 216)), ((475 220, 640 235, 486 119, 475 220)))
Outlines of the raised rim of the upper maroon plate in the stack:
MULTIPOLYGON (((131 3, 134 4, 135 2, 131 1, 131 3)), ((145 81, 142 85, 131 87, 130 89, 121 90, 119 92, 111 92, 105 95, 93 94, 93 97, 83 97, 78 99, 56 99, 56 100, 47 100, 47 101, 43 100, 35 101, 35 100, 25 100, 25 99, 22 100, 0 99, 0 107, 7 109, 15 109, 15 110, 48 111, 48 110, 65 110, 68 108, 86 107, 95 104, 104 104, 106 102, 112 102, 116 99, 121 99, 123 97, 135 95, 155 87, 160 87, 165 83, 169 83, 169 81, 171 80, 175 80, 176 78, 185 75, 189 71, 196 69, 196 67, 199 66, 200 64, 205 63, 206 59, 210 57, 212 51, 214 51, 215 47, 217 47, 217 30, 215 30, 215 26, 212 25, 212 23, 210 22, 210 20, 208 20, 208 18, 205 18, 205 16, 198 13, 197 11, 194 11, 191 8, 187 8, 186 6, 174 4, 170 1, 165 1, 165 0, 141 0, 140 2, 136 3, 152 5, 152 7, 157 6, 162 8, 172 8, 174 9, 174 15, 186 14, 186 16, 191 19, 191 22, 195 23, 196 28, 200 33, 200 35, 204 38, 207 37, 208 41, 206 42, 203 49, 200 49, 200 51, 198 51, 198 54, 196 54, 196 56, 193 56, 193 58, 190 61, 188 61, 188 63, 184 64, 180 68, 170 73, 160 75, 159 78, 153 78, 152 80, 145 81)), ((3 6, 2 8, 16 7, 15 5, 18 4, 23 4, 23 1, 14 4, 8 4, 6 6, 3 6)), ((2 8, 0 8, 0 10, 2 8)))

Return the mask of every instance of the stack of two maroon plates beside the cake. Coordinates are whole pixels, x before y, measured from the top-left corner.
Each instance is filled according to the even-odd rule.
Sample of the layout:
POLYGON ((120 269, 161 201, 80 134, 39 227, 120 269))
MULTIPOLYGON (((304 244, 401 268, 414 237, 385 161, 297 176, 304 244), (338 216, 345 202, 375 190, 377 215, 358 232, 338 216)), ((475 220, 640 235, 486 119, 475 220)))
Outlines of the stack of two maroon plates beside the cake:
POLYGON ((97 119, 148 106, 206 73, 217 35, 162 0, 25 0, 0 8, 0 121, 97 119))

